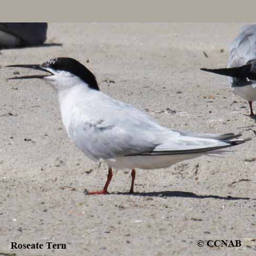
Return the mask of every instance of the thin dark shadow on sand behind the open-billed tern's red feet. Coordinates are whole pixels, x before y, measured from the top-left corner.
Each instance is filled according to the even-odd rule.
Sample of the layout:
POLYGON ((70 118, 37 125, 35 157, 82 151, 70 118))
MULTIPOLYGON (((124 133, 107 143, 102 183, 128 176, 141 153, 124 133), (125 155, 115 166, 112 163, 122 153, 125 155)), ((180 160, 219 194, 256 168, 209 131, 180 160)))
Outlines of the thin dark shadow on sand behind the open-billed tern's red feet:
POLYGON ((215 195, 197 195, 192 192, 186 191, 159 191, 159 192, 143 192, 143 193, 117 193, 118 195, 126 195, 126 196, 145 196, 145 197, 183 197, 183 198, 195 198, 195 199, 206 199, 206 198, 214 198, 221 200, 249 200, 256 198, 250 197, 232 197, 232 196, 215 196, 215 195))

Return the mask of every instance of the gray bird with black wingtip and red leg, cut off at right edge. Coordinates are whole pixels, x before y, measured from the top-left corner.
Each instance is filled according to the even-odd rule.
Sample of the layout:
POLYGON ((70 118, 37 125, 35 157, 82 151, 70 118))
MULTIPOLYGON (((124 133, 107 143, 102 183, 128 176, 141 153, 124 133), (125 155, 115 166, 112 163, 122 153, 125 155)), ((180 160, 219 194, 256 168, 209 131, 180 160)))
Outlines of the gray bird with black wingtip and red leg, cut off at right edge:
POLYGON ((256 24, 244 26, 232 42, 227 68, 201 70, 230 77, 231 88, 248 101, 250 116, 255 118, 252 102, 256 100, 256 24))

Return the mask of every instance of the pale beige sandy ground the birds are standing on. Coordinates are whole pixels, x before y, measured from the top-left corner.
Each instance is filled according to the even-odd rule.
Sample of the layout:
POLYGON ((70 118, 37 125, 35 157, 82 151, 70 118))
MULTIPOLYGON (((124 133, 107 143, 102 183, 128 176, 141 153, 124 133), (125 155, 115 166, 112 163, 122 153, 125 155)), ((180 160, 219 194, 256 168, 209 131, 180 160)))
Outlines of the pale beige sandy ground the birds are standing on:
POLYGON ((199 70, 226 67, 242 25, 51 23, 45 47, 2 50, 0 255, 254 255, 254 138, 221 158, 138 170, 134 195, 126 194, 130 173, 115 172, 110 195, 86 196, 84 188, 104 185, 106 165, 69 141, 46 83, 6 81, 33 71, 4 67, 72 57, 95 74, 102 91, 163 125, 254 137, 255 121, 244 115, 248 103, 233 95, 226 77, 199 70), (231 239, 242 246, 197 246, 231 239), (10 242, 67 249, 10 250, 10 242))

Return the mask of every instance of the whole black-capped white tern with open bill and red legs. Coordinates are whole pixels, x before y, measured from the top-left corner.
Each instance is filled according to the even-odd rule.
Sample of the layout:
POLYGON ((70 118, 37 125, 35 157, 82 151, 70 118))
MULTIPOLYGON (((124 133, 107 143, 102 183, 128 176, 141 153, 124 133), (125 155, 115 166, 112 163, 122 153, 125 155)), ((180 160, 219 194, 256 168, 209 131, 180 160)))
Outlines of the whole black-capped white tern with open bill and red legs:
POLYGON ((70 140, 93 161, 103 159, 109 167, 104 188, 88 194, 107 194, 112 168, 169 167, 180 161, 241 144, 240 134, 196 134, 170 130, 132 105, 100 91, 94 75, 71 58, 50 59, 42 65, 12 65, 47 74, 13 77, 49 82, 58 94, 63 125, 70 140))

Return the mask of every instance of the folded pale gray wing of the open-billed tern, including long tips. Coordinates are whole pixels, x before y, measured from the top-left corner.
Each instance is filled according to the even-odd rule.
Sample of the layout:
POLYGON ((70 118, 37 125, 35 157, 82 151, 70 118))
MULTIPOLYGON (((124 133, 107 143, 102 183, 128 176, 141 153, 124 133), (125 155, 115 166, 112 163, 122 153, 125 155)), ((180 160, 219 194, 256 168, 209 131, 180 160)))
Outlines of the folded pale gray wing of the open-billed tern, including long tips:
POLYGON ((120 156, 191 153, 209 151, 230 146, 221 138, 231 138, 233 134, 202 135, 169 130, 157 124, 148 115, 133 106, 101 95, 101 108, 86 102, 81 112, 73 113, 75 129, 69 131, 71 139, 91 159, 109 159, 120 156), (90 107, 90 111, 88 108, 90 107), (83 116, 82 113, 90 113, 83 116), (97 116, 97 118, 95 118, 97 116), (170 153, 171 152, 171 153, 170 153))

